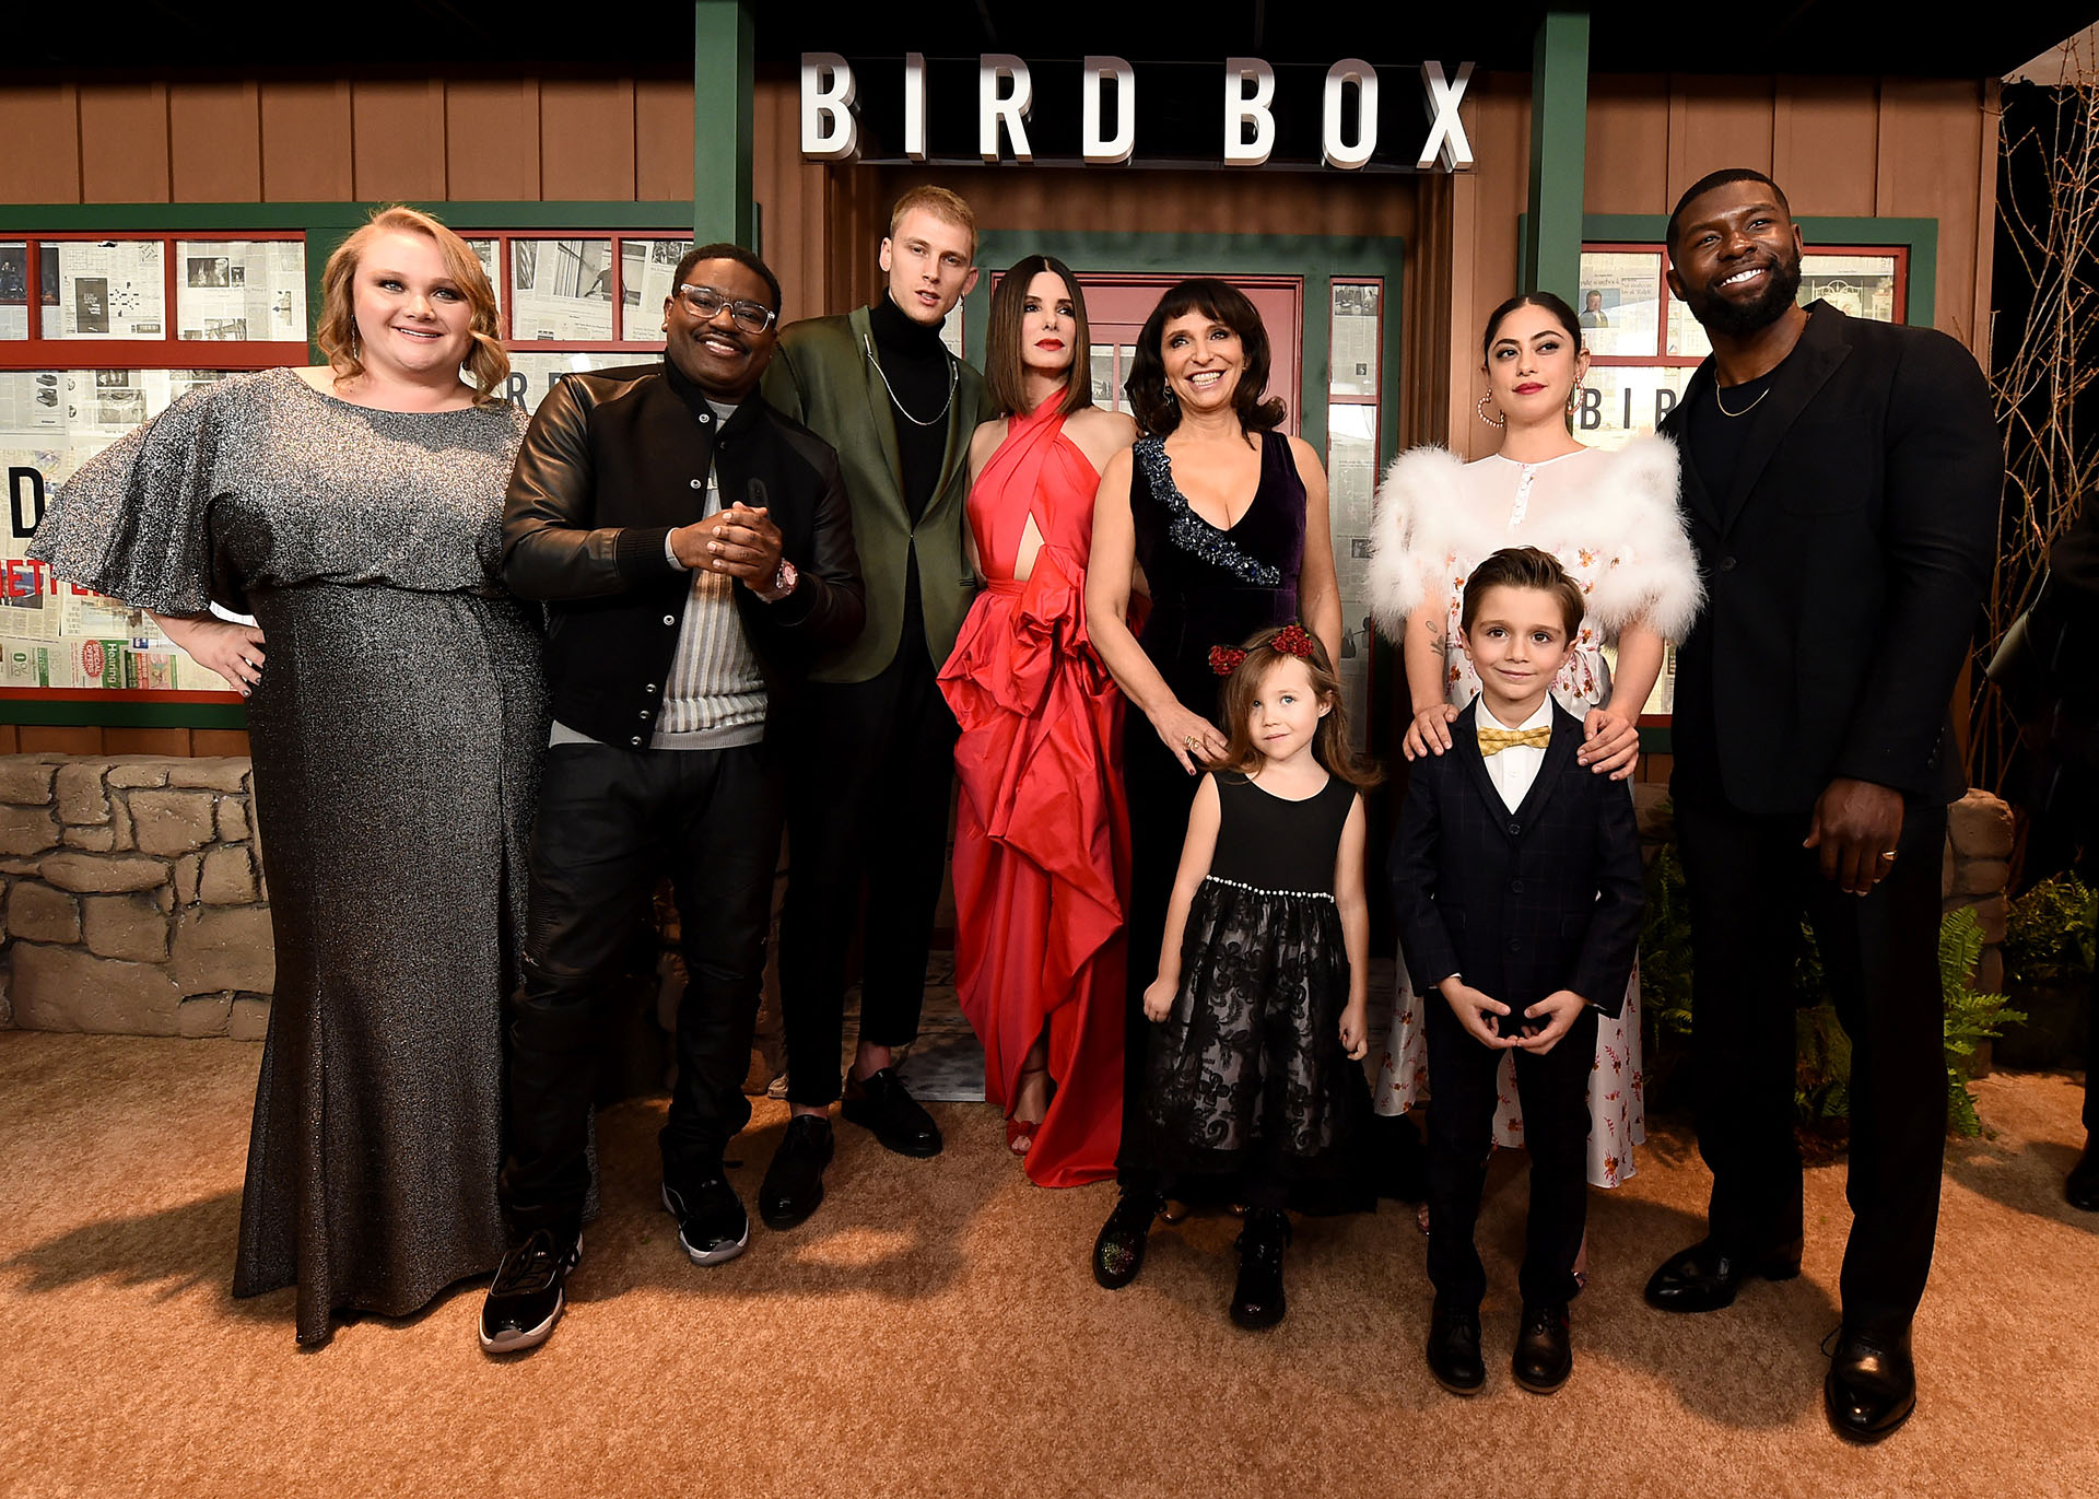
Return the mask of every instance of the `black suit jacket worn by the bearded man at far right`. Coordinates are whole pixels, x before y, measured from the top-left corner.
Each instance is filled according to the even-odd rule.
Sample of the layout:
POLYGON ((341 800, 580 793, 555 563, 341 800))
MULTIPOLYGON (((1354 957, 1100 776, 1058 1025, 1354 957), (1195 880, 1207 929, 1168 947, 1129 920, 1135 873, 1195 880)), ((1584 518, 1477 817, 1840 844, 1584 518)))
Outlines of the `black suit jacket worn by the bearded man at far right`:
MULTIPOLYGON (((1713 399, 1706 359, 1662 430, 1681 441, 1713 399)), ((1814 302, 1725 491, 1683 456, 1706 607, 1677 649, 1675 796, 1807 812, 1851 777, 1958 798, 1948 703, 2002 487, 1967 349, 1814 302)))

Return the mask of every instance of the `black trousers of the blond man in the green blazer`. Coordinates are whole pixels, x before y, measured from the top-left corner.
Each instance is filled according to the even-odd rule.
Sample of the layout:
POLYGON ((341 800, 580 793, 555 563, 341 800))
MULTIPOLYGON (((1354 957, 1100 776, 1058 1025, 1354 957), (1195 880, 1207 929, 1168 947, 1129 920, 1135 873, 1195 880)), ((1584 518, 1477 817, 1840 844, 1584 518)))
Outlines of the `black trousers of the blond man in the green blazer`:
POLYGON ((879 676, 802 691, 781 911, 789 1102, 821 1109, 840 1094, 846 953, 863 928, 863 890, 861 1039, 917 1039, 959 733, 911 630, 879 676))

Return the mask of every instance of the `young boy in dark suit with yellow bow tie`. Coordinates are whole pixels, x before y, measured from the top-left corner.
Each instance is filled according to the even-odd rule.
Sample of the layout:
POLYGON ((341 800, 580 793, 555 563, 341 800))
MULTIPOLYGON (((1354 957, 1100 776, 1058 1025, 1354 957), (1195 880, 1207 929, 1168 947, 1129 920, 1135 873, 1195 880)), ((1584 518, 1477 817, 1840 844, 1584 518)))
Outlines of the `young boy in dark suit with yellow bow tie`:
POLYGON ((1644 905, 1633 798, 1574 762, 1583 724, 1551 697, 1583 613, 1581 588, 1549 552, 1509 548, 1471 571, 1459 642, 1480 695, 1450 724, 1450 750, 1415 760, 1392 844, 1392 905, 1427 1008, 1427 1358, 1453 1394, 1486 1381, 1486 1270, 1471 1237, 1503 1052, 1515 1054, 1530 1146, 1511 1371, 1551 1394, 1574 1369, 1568 1302, 1589 1203, 1595 1018, 1625 1001, 1644 905))

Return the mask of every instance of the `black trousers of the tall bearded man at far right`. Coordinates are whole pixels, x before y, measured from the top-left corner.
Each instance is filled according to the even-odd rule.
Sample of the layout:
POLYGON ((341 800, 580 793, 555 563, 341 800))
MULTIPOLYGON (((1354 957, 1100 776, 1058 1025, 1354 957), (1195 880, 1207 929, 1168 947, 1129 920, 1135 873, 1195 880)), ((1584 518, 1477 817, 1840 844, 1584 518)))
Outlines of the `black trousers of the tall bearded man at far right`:
POLYGON ((1805 915, 1851 1037, 1851 1241, 1843 1316, 1910 1325, 1931 1272, 1946 1155, 1939 995, 1944 806, 1906 806, 1893 871, 1845 894, 1801 848, 1805 817, 1677 804, 1692 901, 1692 1067, 1698 1150, 1713 1169, 1713 1239, 1755 1255, 1801 1237, 1793 1138, 1795 1008, 1786 968, 1805 915))

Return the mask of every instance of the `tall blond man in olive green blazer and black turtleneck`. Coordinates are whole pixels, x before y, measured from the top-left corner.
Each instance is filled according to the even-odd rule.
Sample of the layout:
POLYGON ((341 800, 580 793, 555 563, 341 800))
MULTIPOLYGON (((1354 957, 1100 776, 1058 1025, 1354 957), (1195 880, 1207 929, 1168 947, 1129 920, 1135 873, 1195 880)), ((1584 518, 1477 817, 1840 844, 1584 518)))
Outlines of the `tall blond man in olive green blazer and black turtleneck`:
POLYGON ((844 1117, 890 1150, 940 1153, 892 1050, 917 1037, 926 949, 947 869, 955 716, 934 674, 976 590, 966 544, 970 435, 984 378, 940 342, 976 283, 976 220, 940 187, 905 193, 873 307, 781 334, 764 397, 838 449, 867 584, 867 626, 808 676, 789 768, 781 1018, 787 1138, 758 1188, 772 1228, 823 1201, 842 1092, 846 951, 861 943, 861 1037, 844 1117), (865 886, 865 926, 863 926, 865 886))

